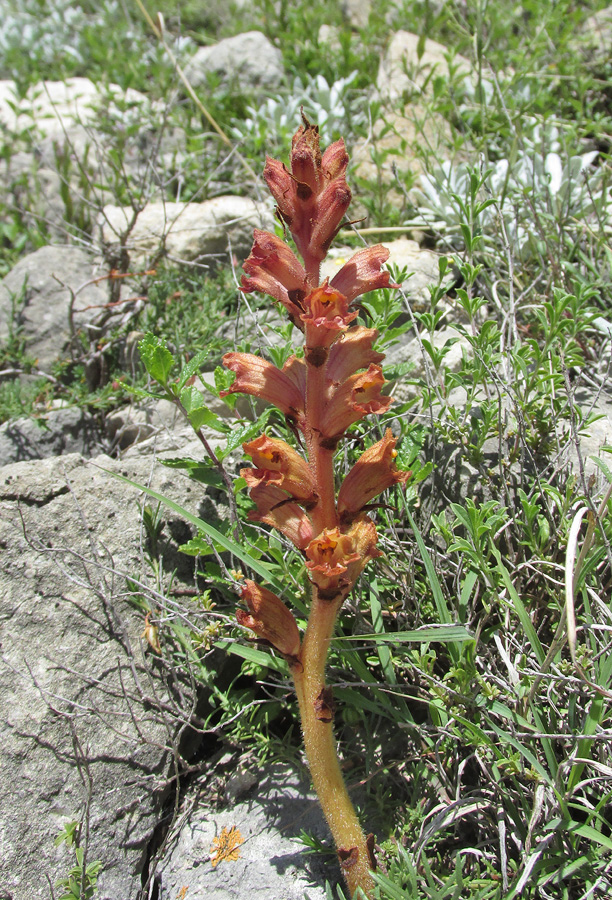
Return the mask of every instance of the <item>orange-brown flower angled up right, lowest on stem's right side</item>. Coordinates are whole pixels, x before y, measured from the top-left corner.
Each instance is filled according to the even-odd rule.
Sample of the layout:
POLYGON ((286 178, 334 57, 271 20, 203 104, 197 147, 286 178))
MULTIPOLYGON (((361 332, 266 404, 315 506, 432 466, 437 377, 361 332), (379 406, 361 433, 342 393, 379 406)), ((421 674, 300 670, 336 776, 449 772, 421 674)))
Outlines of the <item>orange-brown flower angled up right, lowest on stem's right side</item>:
POLYGON ((396 440, 387 428, 382 441, 369 447, 348 473, 338 494, 341 519, 351 518, 374 497, 393 484, 404 484, 410 472, 396 468, 396 440))

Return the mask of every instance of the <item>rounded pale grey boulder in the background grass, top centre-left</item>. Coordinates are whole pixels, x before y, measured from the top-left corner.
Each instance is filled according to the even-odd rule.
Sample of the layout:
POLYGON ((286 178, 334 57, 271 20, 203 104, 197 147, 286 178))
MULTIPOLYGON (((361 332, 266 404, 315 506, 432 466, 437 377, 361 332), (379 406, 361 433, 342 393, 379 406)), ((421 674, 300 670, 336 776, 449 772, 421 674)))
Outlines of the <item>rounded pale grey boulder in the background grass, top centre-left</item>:
POLYGON ((194 87, 215 75, 224 89, 275 90, 284 77, 283 58, 265 34, 247 31, 212 47, 200 47, 187 66, 187 75, 194 87))

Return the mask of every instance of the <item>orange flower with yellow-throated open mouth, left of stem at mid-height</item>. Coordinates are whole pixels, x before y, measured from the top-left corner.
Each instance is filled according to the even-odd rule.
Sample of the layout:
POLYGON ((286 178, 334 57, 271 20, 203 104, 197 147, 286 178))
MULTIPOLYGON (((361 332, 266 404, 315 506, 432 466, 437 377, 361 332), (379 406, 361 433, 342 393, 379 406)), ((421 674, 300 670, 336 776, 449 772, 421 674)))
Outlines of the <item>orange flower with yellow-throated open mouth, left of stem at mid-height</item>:
POLYGON ((312 469, 285 441, 262 434, 243 444, 242 449, 256 466, 255 469, 243 469, 240 473, 243 478, 248 472, 258 482, 274 484, 306 508, 317 502, 312 469))

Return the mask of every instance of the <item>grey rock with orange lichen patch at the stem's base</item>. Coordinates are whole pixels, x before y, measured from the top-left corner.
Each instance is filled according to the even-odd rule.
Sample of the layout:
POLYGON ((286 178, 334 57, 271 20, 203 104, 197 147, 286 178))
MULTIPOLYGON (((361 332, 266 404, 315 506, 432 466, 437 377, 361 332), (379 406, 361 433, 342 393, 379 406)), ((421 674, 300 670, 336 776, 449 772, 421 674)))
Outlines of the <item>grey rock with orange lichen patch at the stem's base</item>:
POLYGON ((338 878, 336 866, 323 870, 296 840, 302 829, 320 838, 328 832, 308 781, 288 765, 266 768, 252 796, 230 808, 211 810, 197 796, 187 799, 191 804, 158 867, 164 897, 189 885, 189 893, 207 900, 324 900, 325 877, 338 878), (240 832, 240 855, 213 866, 213 842, 224 828, 240 832))

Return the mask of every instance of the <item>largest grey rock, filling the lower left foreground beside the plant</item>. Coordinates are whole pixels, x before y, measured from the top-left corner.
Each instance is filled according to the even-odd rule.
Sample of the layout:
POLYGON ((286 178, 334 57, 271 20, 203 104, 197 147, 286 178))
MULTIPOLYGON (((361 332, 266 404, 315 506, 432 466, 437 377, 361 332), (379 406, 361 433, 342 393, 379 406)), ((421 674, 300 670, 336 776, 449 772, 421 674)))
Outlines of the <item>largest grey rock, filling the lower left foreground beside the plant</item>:
MULTIPOLYGON (((194 512, 205 500, 150 459, 96 463, 194 512)), ((143 615, 125 600, 123 573, 143 571, 137 501, 78 455, 0 473, 0 895, 12 900, 47 900, 46 876, 66 874, 74 857, 53 840, 81 818, 89 783, 99 898, 135 900, 141 887, 176 729, 159 703, 167 691, 141 639, 143 615)), ((175 518, 184 531, 174 514, 168 528, 175 518)), ((173 552, 167 565, 180 578, 173 552)))

